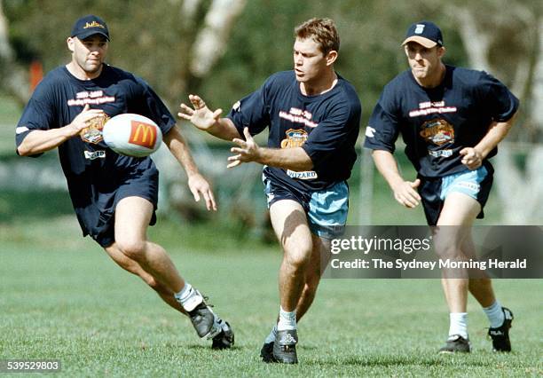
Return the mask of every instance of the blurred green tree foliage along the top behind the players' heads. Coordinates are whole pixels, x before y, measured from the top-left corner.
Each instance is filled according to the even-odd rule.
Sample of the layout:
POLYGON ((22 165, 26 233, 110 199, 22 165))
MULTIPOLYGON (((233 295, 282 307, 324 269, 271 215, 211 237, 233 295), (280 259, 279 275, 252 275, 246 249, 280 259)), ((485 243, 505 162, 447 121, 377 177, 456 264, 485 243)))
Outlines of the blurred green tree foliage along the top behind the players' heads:
MULTIPOLYGON (((531 9, 530 1, 516 2, 531 9)), ((480 14, 493 2, 249 1, 239 20, 233 23, 230 38, 224 41, 224 58, 205 77, 196 77, 190 72, 193 43, 212 3, 11 0, 4 2, 4 12, 10 22, 12 46, 22 63, 41 59, 46 71, 64 64, 72 23, 84 14, 96 13, 106 20, 111 31, 111 64, 143 76, 171 106, 177 106, 190 91, 201 92, 216 107, 226 108, 254 91, 268 75, 292 67, 293 30, 297 24, 311 17, 330 17, 336 21, 342 39, 337 70, 358 89, 367 119, 384 83, 407 67, 399 43, 413 21, 437 22, 445 35, 446 61, 468 66, 455 12, 468 7, 480 14), (192 10, 189 12, 188 8, 192 10)), ((508 17, 495 8, 492 17, 477 20, 480 28, 493 35, 492 46, 501 46, 497 44, 500 41, 508 43, 512 51, 509 58, 532 49, 531 42, 523 39, 522 26, 508 22, 508 17)), ((507 51, 502 48, 492 48, 492 54, 492 59, 500 61, 492 66, 496 69, 494 74, 510 82, 508 67, 515 59, 507 59, 507 51)))

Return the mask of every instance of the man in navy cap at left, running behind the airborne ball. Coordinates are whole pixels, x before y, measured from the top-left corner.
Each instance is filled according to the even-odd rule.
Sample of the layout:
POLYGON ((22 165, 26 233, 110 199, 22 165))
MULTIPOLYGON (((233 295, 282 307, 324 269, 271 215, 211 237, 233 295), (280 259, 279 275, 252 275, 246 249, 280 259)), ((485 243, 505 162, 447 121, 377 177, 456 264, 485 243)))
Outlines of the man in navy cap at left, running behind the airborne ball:
POLYGON ((75 21, 67 38, 72 59, 36 87, 15 130, 17 154, 38 156, 58 147, 83 236, 90 235, 115 263, 188 315, 197 334, 212 339, 213 348, 230 348, 232 328, 179 275, 164 248, 147 240, 158 202, 154 162, 116 154, 104 142, 102 129, 110 117, 136 113, 151 118, 185 169, 194 199, 202 196, 209 210, 216 209, 211 188, 161 98, 143 79, 105 63, 109 39, 99 17, 75 21))

